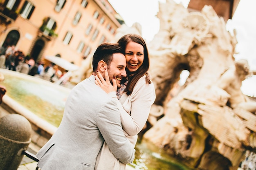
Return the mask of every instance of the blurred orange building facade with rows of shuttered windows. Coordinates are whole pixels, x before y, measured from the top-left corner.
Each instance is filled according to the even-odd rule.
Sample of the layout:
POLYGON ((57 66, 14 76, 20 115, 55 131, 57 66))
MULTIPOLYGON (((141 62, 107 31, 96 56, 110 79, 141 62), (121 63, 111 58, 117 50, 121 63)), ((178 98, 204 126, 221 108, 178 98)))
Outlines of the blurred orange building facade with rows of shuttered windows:
POLYGON ((0 0, 0 46, 78 66, 123 24, 108 0, 0 0))

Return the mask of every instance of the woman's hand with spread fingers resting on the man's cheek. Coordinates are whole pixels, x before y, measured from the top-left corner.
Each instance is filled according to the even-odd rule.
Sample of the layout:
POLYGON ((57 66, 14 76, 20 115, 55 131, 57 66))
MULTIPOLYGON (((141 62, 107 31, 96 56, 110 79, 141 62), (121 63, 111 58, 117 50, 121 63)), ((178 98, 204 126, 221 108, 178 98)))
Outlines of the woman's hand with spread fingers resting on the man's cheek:
POLYGON ((108 77, 108 70, 104 68, 105 71, 105 79, 102 77, 101 73, 97 70, 97 75, 95 75, 95 84, 102 88, 103 91, 106 93, 110 93, 113 91, 117 91, 117 82, 115 79, 115 76, 112 77, 112 84, 110 82, 110 79, 108 77))

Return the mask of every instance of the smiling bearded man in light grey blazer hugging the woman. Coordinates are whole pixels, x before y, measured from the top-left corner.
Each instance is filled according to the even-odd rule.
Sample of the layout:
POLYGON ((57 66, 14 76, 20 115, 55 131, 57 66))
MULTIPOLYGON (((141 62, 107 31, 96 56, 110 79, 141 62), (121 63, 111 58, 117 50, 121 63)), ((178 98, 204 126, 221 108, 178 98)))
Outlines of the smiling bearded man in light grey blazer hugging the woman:
MULTIPOLYGON (((126 77, 124 50, 118 44, 103 43, 93 55, 92 66, 94 73, 103 77, 108 69, 109 77, 120 86, 120 80, 126 77)), ((119 161, 132 163, 135 150, 122 130, 117 103, 95 84, 91 75, 70 92, 60 126, 36 155, 38 167, 94 170, 104 140, 119 161)))

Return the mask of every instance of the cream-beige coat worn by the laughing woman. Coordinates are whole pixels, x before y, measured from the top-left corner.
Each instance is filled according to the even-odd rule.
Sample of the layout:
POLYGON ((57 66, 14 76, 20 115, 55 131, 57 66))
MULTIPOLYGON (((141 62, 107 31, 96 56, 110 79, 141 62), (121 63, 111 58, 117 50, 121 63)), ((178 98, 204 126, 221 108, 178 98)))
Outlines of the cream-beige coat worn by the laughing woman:
MULTIPOLYGON (((121 124, 124 133, 135 147, 138 133, 142 130, 152 104, 155 102, 155 88, 153 83, 146 84, 146 76, 141 77, 136 83, 132 93, 128 96, 124 93, 119 99, 119 110, 121 113, 121 124), (128 114, 127 114, 128 113, 128 114)), ((118 101, 115 93, 109 95, 118 101)), ((95 170, 125 170, 126 165, 120 163, 111 153, 107 144, 103 145, 100 155, 97 157, 95 170), (106 159, 107 158, 107 159, 106 159)))

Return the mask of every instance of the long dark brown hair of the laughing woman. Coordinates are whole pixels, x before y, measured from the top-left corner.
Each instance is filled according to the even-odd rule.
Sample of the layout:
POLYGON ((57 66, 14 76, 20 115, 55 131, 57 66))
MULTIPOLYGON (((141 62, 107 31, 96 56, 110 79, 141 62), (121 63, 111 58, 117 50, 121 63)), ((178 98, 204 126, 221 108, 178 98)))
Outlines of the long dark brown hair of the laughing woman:
POLYGON ((141 66, 135 72, 129 73, 128 69, 126 68, 127 76, 134 73, 134 75, 132 75, 132 77, 129 79, 126 89, 124 90, 124 92, 127 92, 127 95, 130 95, 132 93, 135 84, 142 76, 146 75, 146 83, 147 84, 151 83, 151 81, 149 79, 149 75, 148 75, 149 56, 148 56, 148 49, 146 46, 146 42, 143 40, 143 38, 141 38, 141 36, 139 36, 137 34, 126 34, 123 37, 121 37, 117 43, 125 50, 126 45, 129 42, 136 42, 143 46, 144 60, 143 60, 143 63, 141 64, 141 66))

